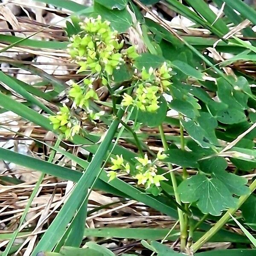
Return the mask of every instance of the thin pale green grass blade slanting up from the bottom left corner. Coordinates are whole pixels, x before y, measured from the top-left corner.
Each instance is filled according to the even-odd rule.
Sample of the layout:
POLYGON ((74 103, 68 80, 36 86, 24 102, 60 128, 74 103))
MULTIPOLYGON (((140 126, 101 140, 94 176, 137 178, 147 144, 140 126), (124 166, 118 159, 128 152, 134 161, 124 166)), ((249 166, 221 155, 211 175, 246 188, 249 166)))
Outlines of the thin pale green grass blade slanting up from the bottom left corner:
MULTIPOLYGON (((60 135, 60 136, 58 137, 58 140, 57 140, 56 143, 55 143, 55 146, 56 146, 56 147, 58 147, 58 146, 60 145, 60 143, 61 143, 61 138, 62 138, 62 136, 60 135)), ((48 159, 48 162, 49 162, 49 163, 52 162, 53 157, 55 156, 55 152, 56 152, 55 150, 52 150, 52 151, 51 151, 51 153, 50 153, 50 155, 49 155, 49 159, 48 159)), ((11 249, 11 247, 12 247, 12 244, 14 243, 14 241, 15 241, 15 239, 16 239, 16 237, 17 237, 17 234, 18 234, 19 231, 20 231, 20 227, 22 226, 23 221, 25 220, 26 215, 27 215, 27 213, 28 213, 28 211, 29 211, 29 207, 30 207, 30 205, 32 204, 32 201, 34 200, 35 196, 37 195, 38 189, 39 189, 39 187, 40 187, 42 181, 44 180, 44 175, 45 175, 45 174, 42 173, 42 174, 40 175, 40 177, 38 178, 38 181, 37 181, 37 183, 35 184, 35 188, 33 189, 32 193, 31 193, 31 196, 30 196, 30 198, 29 198, 29 201, 28 201, 28 203, 27 203, 27 205, 26 205, 26 207, 25 207, 25 209, 24 209, 24 212, 23 212, 21 218, 20 218, 20 224, 19 224, 19 226, 17 227, 17 229, 15 230, 15 232, 12 234, 12 238, 10 239, 8 245, 6 246, 6 249, 4 250, 2 256, 7 256, 7 255, 9 254, 9 251, 10 251, 10 249, 11 249)))

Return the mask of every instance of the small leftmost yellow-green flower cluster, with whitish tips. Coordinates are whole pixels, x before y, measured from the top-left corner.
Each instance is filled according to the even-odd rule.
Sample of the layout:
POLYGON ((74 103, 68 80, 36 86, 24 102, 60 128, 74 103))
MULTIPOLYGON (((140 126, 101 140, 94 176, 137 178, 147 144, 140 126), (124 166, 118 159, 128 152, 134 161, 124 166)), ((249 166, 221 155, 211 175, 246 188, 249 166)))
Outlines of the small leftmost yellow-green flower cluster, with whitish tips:
POLYGON ((60 108, 55 116, 49 116, 54 130, 59 130, 65 134, 66 139, 72 138, 80 130, 79 120, 71 116, 70 111, 66 105, 60 108))

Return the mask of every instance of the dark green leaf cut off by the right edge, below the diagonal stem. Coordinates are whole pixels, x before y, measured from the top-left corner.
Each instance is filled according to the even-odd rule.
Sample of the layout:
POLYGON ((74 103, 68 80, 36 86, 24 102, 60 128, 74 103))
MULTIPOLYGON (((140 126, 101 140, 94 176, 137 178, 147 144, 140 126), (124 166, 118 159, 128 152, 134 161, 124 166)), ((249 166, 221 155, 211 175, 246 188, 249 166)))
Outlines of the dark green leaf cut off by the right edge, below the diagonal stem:
POLYGON ((242 204, 241 210, 245 223, 252 230, 256 230, 256 195, 250 195, 242 204))

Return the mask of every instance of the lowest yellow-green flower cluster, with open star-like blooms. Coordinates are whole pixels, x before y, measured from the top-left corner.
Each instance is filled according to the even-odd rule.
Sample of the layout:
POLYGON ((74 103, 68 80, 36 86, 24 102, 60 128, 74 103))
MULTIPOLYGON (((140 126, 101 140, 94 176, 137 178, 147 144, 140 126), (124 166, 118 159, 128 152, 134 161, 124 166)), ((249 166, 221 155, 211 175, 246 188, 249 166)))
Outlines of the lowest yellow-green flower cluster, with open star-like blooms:
POLYGON ((154 190, 157 188, 157 191, 160 191, 160 181, 167 180, 163 175, 157 174, 157 166, 155 162, 157 160, 163 160, 167 155, 163 154, 162 151, 157 153, 157 158, 152 162, 148 159, 148 155, 145 154, 144 157, 135 157, 137 164, 135 169, 131 169, 128 163, 124 163, 122 155, 116 155, 116 159, 111 157, 112 166, 110 169, 112 171, 108 172, 109 181, 113 180, 118 171, 122 174, 130 174, 134 179, 137 180, 138 185, 143 185, 146 190, 154 190))

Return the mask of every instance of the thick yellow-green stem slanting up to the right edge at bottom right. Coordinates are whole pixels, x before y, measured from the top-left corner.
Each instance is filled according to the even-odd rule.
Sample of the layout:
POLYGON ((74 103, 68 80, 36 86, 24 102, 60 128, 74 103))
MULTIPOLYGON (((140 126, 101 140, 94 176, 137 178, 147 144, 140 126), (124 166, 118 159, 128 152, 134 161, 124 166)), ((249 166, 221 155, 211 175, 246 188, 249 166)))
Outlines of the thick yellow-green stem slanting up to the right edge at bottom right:
POLYGON ((227 223, 230 219, 230 214, 233 215, 236 213, 236 211, 241 207, 241 205, 246 201, 246 199, 250 196, 250 194, 256 189, 256 180, 253 181, 253 183, 250 184, 250 193, 248 195, 242 195, 239 198, 238 205, 236 208, 230 208, 219 220, 218 222, 210 229, 208 230, 204 236, 202 236, 198 241, 195 242, 195 244, 192 245, 192 251, 196 252, 198 249, 200 249, 213 235, 215 235, 218 230, 221 229, 221 227, 224 226, 224 224, 227 223))

